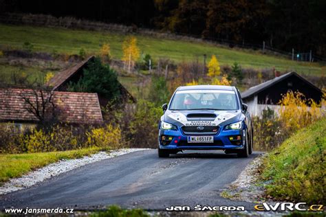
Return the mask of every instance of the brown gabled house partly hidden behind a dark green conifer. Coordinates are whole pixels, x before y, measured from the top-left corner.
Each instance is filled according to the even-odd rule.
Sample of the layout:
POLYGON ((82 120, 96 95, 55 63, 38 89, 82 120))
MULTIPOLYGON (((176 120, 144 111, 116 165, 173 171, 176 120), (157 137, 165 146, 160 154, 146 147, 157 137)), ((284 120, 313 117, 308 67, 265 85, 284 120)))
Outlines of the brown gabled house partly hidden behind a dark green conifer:
MULTIPOLYGON (((78 80, 83 76, 83 69, 87 68, 87 64, 93 61, 94 58, 95 56, 90 56, 74 67, 56 73, 54 77, 47 82, 47 86, 52 87, 53 91, 67 91, 69 82, 78 82, 78 80)), ((120 93, 124 102, 136 102, 135 98, 133 98, 129 91, 122 86, 122 84, 120 84, 120 93)), ((101 95, 98 95, 98 98, 101 106, 106 106, 107 102, 109 102, 109 100, 103 98, 101 95)))

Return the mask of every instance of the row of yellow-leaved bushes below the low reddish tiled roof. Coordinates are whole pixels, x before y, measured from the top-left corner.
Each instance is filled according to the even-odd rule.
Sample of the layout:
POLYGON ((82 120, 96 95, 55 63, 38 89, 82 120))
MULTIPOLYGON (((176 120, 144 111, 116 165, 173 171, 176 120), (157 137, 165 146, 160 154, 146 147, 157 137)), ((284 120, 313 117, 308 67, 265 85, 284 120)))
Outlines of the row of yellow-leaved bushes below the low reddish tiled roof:
POLYGON ((101 128, 87 126, 36 127, 17 132, 13 124, 0 125, 0 153, 52 152, 79 148, 120 148, 121 130, 108 124, 101 128))

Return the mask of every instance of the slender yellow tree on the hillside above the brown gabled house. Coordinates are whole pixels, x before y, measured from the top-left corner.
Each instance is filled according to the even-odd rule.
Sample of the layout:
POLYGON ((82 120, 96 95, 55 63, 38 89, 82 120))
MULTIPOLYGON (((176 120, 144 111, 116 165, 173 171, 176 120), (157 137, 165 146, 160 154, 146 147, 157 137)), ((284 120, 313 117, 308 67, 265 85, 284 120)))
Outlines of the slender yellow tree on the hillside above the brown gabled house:
POLYGON ((122 61, 124 62, 124 69, 128 67, 128 72, 130 73, 131 68, 135 66, 135 61, 140 57, 140 51, 137 47, 137 39, 135 37, 128 37, 122 43, 122 61))

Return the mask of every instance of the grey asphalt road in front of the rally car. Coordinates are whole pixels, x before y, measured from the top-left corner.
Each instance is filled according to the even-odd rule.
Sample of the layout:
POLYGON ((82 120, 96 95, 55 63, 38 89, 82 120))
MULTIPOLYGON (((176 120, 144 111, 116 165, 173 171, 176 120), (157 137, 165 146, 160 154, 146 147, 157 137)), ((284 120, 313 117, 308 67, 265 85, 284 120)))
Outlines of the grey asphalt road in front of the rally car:
POLYGON ((0 197, 0 207, 74 207, 107 205, 163 210, 171 205, 244 205, 219 196, 254 157, 237 158, 220 151, 186 152, 159 159, 156 150, 85 165, 39 185, 0 197))

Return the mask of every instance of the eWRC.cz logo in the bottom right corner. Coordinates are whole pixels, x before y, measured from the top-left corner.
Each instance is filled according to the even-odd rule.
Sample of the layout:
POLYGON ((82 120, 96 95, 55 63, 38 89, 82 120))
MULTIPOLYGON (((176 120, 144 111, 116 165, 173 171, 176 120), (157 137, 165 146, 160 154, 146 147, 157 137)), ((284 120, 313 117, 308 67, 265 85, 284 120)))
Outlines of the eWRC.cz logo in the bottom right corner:
POLYGON ((324 211, 324 205, 314 204, 307 207, 307 203, 275 203, 270 205, 268 203, 262 203, 255 205, 254 209, 258 211, 324 211))

